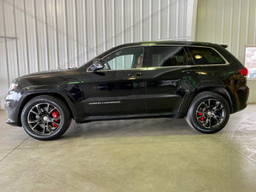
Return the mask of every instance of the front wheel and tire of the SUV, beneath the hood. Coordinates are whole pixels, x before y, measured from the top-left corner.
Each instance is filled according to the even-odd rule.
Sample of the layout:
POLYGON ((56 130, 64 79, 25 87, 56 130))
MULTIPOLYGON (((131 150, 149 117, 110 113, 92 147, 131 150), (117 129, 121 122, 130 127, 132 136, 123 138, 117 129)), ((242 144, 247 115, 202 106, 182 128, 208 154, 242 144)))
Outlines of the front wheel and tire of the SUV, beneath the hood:
POLYGON ((21 124, 26 133, 38 140, 61 137, 71 122, 67 106, 55 96, 36 96, 21 112, 21 124))

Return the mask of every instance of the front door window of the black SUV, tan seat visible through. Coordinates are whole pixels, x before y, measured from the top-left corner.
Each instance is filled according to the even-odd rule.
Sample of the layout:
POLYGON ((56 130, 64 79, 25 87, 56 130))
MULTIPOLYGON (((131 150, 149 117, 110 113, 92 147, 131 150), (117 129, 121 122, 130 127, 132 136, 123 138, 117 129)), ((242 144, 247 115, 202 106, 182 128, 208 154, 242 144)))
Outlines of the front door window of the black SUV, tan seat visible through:
POLYGON ((118 70, 143 67, 143 47, 119 49, 103 59, 102 70, 118 70))

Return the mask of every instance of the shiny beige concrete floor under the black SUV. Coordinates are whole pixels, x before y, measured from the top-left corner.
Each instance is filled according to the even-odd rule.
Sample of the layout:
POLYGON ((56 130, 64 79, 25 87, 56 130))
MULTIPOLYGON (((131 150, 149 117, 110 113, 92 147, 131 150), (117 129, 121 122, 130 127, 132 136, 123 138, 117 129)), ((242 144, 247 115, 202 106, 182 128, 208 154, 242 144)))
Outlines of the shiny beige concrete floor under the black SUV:
POLYGON ((72 123, 40 142, 0 110, 0 191, 256 191, 256 105, 204 135, 184 119, 72 123))

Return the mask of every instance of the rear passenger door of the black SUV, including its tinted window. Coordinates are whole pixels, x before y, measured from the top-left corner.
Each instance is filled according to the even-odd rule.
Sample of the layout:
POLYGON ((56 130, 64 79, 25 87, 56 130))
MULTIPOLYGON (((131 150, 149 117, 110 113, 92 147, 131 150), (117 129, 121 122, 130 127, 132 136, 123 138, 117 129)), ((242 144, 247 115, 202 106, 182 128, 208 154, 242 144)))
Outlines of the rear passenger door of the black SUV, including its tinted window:
POLYGON ((174 115, 201 75, 183 46, 149 46, 146 106, 148 113, 174 115))

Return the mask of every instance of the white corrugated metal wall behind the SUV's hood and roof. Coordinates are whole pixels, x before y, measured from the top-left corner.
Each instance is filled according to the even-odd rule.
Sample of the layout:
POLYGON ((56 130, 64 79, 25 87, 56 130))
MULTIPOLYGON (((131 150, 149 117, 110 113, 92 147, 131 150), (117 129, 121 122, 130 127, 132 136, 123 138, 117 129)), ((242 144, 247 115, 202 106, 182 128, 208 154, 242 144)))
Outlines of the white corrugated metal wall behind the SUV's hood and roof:
POLYGON ((0 0, 0 108, 13 79, 131 42, 189 40, 194 0, 0 0))

